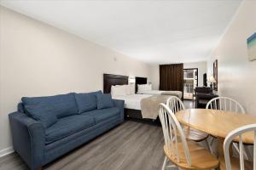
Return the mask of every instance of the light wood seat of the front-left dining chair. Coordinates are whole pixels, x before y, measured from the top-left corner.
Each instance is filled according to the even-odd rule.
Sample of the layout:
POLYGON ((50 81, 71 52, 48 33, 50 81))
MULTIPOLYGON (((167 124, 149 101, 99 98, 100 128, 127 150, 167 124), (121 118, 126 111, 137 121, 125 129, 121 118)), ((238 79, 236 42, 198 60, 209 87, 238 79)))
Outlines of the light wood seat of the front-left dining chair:
MULTIPOLYGON (((170 161, 176 164, 177 167, 181 167, 184 169, 211 169, 218 167, 218 159, 213 156, 208 150, 204 149, 199 144, 196 144, 194 141, 187 141, 187 143, 189 147, 189 154, 191 157, 190 167, 186 161, 182 143, 177 143, 177 150, 179 150, 180 153, 179 162, 177 162, 176 154, 170 153, 167 150, 166 145, 164 146, 166 156, 169 158, 170 161)), ((175 144, 172 144, 172 147, 175 147, 175 144)))

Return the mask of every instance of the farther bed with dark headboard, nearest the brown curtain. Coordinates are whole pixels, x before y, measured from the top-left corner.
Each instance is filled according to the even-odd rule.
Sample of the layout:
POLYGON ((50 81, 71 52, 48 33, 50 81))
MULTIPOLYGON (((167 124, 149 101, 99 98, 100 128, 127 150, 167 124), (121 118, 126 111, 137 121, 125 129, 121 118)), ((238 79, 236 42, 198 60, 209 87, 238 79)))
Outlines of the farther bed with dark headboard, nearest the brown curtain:
POLYGON ((137 94, 174 95, 179 99, 183 99, 183 93, 181 91, 152 90, 151 84, 148 84, 146 77, 135 77, 135 86, 137 94), (143 88, 144 86, 148 86, 148 88, 143 88))

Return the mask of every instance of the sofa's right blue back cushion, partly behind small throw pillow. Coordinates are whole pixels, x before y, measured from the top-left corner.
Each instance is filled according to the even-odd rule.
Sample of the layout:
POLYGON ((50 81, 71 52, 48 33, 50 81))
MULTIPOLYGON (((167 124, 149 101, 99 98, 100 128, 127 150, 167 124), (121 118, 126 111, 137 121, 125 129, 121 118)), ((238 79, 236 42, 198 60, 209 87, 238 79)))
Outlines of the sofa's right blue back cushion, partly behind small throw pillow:
POLYGON ((77 101, 79 114, 84 111, 92 111, 97 109, 96 95, 102 94, 102 91, 96 91, 84 94, 75 94, 75 99, 77 101))

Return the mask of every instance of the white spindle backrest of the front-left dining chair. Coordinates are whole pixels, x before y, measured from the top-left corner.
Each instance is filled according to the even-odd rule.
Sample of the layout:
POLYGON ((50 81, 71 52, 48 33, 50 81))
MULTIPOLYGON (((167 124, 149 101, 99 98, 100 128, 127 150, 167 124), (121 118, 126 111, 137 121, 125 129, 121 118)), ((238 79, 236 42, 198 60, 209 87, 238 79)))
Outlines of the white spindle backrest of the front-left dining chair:
POLYGON ((181 141, 183 144, 183 153, 188 163, 188 166, 191 166, 191 157, 189 154, 189 147, 183 133, 183 128, 177 122, 177 118, 174 113, 167 107, 165 104, 160 104, 160 122, 163 128, 165 145, 168 153, 175 156, 177 162, 180 160, 180 150, 177 147, 178 141, 181 141), (178 134, 178 135, 177 135, 178 134), (180 140, 178 140, 178 138, 180 140))

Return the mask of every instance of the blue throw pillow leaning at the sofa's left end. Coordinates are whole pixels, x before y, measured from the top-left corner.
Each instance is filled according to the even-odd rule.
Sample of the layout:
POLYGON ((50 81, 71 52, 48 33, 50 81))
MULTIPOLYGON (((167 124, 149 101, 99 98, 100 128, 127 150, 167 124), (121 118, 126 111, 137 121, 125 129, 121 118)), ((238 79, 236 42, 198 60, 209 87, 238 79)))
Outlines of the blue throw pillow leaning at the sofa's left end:
POLYGON ((36 121, 41 122, 45 128, 50 127, 57 122, 57 116, 50 105, 26 105, 25 109, 29 113, 29 116, 36 121))

